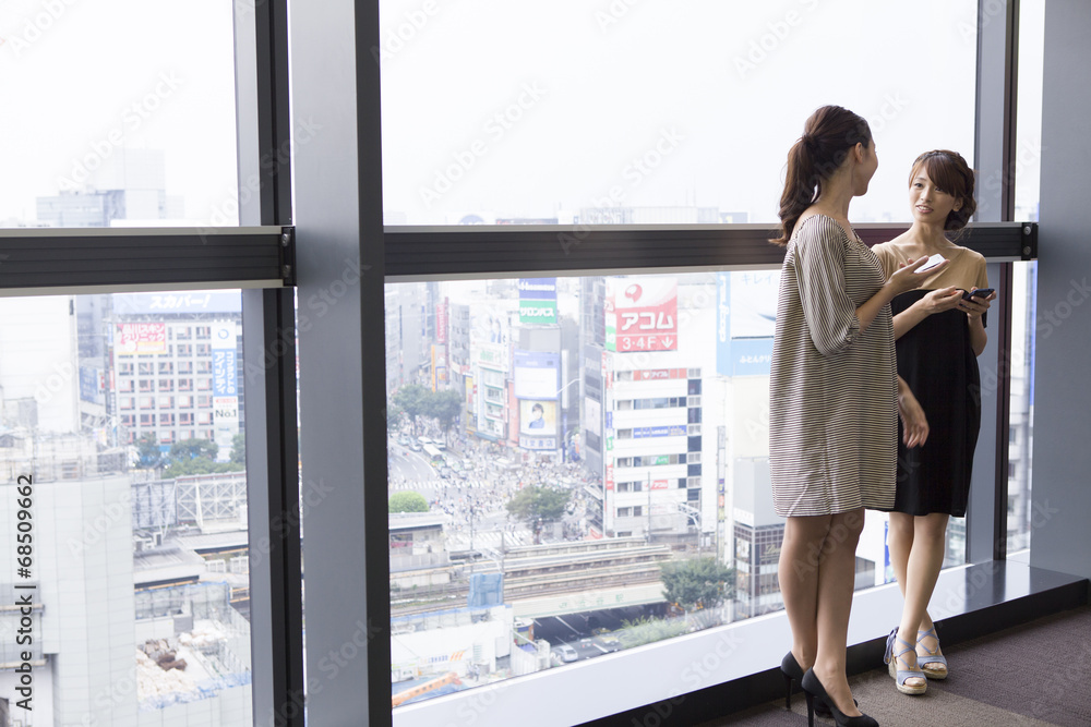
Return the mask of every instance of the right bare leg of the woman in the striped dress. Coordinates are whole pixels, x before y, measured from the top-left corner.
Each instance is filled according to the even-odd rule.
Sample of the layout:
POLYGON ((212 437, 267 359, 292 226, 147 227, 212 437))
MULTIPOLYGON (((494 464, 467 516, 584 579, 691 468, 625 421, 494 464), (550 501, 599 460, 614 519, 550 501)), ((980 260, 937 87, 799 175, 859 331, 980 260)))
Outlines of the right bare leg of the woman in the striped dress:
POLYGON ((831 517, 829 535, 818 561, 818 654, 815 676, 838 710, 850 717, 860 710, 852 702, 852 690, 844 670, 849 611, 856 570, 856 543, 864 529, 864 510, 859 508, 831 517))

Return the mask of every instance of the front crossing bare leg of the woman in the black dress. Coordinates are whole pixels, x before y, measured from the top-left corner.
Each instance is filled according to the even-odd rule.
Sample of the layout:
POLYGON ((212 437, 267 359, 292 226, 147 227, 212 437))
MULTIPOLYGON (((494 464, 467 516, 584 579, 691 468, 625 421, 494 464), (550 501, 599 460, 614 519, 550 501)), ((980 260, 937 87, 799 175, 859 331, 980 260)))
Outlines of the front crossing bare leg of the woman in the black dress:
MULTIPOLYGON (((908 644, 916 645, 916 631, 927 616, 928 601, 936 587, 939 570, 944 565, 949 516, 942 512, 913 518, 913 547, 909 554, 904 578, 906 606, 901 613, 901 625, 898 627, 898 638, 908 644)), ((916 655, 906 654, 909 668, 916 668, 916 655)), ((906 680, 907 686, 921 684, 919 677, 906 680)))

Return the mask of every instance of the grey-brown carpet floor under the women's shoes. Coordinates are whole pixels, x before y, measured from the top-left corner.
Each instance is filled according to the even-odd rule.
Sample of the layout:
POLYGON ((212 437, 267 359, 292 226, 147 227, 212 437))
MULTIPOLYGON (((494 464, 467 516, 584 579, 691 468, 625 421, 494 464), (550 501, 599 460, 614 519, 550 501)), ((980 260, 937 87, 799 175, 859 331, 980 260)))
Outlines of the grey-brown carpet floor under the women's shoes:
MULTIPOLYGON (((950 676, 930 681, 922 695, 900 694, 882 664, 852 677, 860 708, 884 727, 1091 726, 1091 607, 945 646, 944 653, 950 676)), ((780 699, 699 727, 806 724, 807 705, 796 693, 791 712, 780 699)))

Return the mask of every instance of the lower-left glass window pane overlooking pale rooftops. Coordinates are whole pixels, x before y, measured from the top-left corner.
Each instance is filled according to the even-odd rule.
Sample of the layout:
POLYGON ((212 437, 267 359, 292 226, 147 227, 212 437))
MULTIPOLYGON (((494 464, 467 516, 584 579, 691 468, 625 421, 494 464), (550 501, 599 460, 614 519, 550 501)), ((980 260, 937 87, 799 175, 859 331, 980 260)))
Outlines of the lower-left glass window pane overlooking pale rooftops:
MULTIPOLYGON (((19 593, 34 603, 33 642, 22 647, 31 652, 22 661, 34 696, 45 698, 34 701, 34 724, 207 725, 212 714, 216 723, 251 725, 249 578, 211 577, 200 555, 209 535, 236 555, 249 547, 244 465, 231 463, 239 397, 227 387, 216 392, 201 431, 208 440, 196 447, 173 449, 189 431, 175 428, 172 412, 122 413, 133 397, 113 388, 117 368, 136 350, 156 354, 165 337, 127 328, 113 298, 0 298, 0 482, 31 483, 33 516, 25 571, 14 567, 14 538, 0 543, 0 559, 12 564, 0 573, 0 592, 32 586, 19 593), (79 334, 70 311, 82 318, 79 334), (143 338, 128 338, 132 330, 143 338), (177 480, 211 472, 221 474, 177 480)), ((230 331, 233 353, 238 306, 217 326, 230 331)), ((152 395, 140 400, 154 403, 152 395)), ((0 487, 3 528, 24 507, 14 486, 0 487)), ((0 611, 0 631, 13 634, 19 618, 17 609, 0 611)), ((0 643, 0 663, 20 663, 14 646, 0 643)), ((14 707, 12 683, 0 678, 0 696, 14 707)))

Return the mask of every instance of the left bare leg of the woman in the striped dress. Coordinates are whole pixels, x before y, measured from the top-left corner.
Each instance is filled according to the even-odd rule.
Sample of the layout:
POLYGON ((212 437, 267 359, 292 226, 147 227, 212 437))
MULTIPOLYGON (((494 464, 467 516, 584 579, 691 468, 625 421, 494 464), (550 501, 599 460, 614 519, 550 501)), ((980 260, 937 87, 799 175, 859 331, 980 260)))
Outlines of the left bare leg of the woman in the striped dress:
POLYGON ((804 670, 818 653, 818 562, 830 516, 788 518, 778 577, 792 627, 792 654, 804 670))

